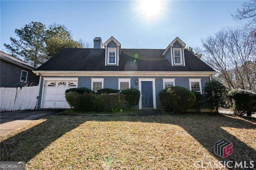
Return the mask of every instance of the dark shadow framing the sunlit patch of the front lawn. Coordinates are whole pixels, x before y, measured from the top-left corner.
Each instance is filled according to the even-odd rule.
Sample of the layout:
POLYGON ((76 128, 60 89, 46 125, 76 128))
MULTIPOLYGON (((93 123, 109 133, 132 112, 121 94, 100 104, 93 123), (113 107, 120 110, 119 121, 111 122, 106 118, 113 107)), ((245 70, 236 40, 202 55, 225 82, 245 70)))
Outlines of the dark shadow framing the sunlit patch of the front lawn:
MULTIPOLYGON (((254 164, 256 164, 256 150, 236 138, 235 134, 230 134, 224 130, 225 127, 256 130, 256 125, 251 123, 250 120, 246 121, 216 114, 164 115, 154 116, 153 119, 152 117, 79 117, 79 119, 72 119, 72 117, 69 117, 70 119, 62 119, 60 117, 58 122, 56 122, 56 119, 50 118, 47 118, 46 121, 39 125, 2 141, 0 144, 0 160, 28 162, 46 146, 54 142, 54 140, 86 121, 128 121, 178 125, 200 142, 216 159, 231 160, 238 163, 240 161, 247 161, 247 166, 250 166, 249 162, 254 160, 254 164), (224 159, 214 154, 214 143, 222 138, 227 139, 233 144, 233 154, 224 159)), ((255 138, 255 136, 251 137, 255 138)), ((254 142, 256 144, 256 139, 254 139, 254 142)), ((191 163, 193 164, 194 162, 191 163)), ((234 166, 234 163, 229 165, 234 166)))

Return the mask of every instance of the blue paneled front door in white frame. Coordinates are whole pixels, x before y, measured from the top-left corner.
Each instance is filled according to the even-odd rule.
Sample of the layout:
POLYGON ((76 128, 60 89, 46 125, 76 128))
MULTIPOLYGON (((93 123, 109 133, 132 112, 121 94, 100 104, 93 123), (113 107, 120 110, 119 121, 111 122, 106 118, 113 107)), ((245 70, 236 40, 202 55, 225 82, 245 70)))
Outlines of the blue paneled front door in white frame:
POLYGON ((153 107, 152 81, 141 82, 142 107, 153 107))

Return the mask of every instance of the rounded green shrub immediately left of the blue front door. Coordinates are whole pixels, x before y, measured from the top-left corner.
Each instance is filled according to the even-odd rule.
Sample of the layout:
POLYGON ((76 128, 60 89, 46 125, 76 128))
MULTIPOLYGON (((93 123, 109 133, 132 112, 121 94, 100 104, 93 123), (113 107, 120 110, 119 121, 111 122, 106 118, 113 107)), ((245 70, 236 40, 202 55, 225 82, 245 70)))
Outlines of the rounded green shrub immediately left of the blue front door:
POLYGON ((140 101, 140 91, 138 89, 126 89, 122 90, 121 94, 125 95, 125 102, 127 107, 131 109, 132 106, 136 106, 140 101))

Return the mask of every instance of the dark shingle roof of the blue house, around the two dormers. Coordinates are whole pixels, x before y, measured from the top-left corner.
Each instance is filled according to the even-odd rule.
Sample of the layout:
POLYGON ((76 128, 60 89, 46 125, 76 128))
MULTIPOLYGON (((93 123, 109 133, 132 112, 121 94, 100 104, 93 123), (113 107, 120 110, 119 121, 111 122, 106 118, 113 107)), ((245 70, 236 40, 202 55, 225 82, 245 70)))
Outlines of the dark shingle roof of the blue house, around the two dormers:
POLYGON ((165 49, 122 49, 119 66, 105 66, 105 49, 64 48, 38 71, 215 71, 184 49, 184 67, 172 66, 162 55, 165 49), (138 54, 138 58, 134 55, 138 54), (134 59, 136 61, 134 62, 134 59))

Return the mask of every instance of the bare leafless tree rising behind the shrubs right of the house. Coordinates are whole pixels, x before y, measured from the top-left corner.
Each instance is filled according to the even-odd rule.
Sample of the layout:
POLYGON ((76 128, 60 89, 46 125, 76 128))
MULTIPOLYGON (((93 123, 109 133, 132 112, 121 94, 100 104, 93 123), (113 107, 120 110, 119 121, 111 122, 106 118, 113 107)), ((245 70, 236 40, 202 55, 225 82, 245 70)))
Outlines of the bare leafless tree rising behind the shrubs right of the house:
POLYGON ((256 91, 256 41, 251 29, 222 29, 202 39, 202 60, 218 71, 217 78, 229 90, 256 91))

